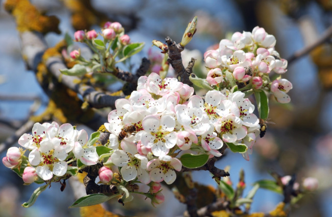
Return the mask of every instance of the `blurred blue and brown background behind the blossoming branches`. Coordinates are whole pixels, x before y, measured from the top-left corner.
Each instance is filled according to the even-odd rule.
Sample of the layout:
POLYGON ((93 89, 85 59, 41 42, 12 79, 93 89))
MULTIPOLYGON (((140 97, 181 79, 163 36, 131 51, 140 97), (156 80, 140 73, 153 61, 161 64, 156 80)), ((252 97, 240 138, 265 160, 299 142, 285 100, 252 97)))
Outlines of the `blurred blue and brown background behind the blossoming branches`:
MULTIPOLYGON (((68 9, 69 0, 30 1, 48 15, 60 20, 61 34, 49 33, 45 40, 54 46, 64 34, 74 34, 71 24, 73 8, 68 9)), ((88 1, 85 1, 88 2, 88 1)), ((135 26, 126 33, 131 41, 145 41, 143 52, 132 59, 138 67, 140 58, 147 57, 153 39, 164 41, 170 36, 176 42, 182 38, 187 23, 198 17, 197 33, 186 46, 184 61, 191 57, 203 59, 209 46, 218 44, 233 32, 252 31, 255 26, 263 27, 276 37, 276 50, 281 58, 292 55, 318 41, 332 25, 332 2, 330 0, 220 0, 220 1, 89 1, 91 7, 100 13, 99 19, 126 23, 128 17, 136 20, 135 26)), ((98 17, 96 18, 98 21, 98 17)), ((13 17, 0 6, 0 142, 11 136, 30 115, 40 114, 48 104, 35 74, 25 67, 20 55, 20 41, 13 17)), ((77 27, 79 28, 79 27, 77 27)), ((100 31, 99 26, 91 29, 100 31)), ((153 52, 159 52, 152 47, 153 52)), ((197 70, 201 70, 199 68, 197 70)), ((195 73, 195 71, 194 71, 195 73)), ((290 216, 332 216, 332 40, 324 43, 301 57, 289 62, 283 75, 293 83, 289 92, 291 103, 281 105, 270 102, 269 118, 275 125, 269 125, 266 135, 258 138, 253 147, 250 161, 240 154, 228 152, 218 162, 219 168, 230 165, 233 183, 239 179, 241 168, 245 171, 248 186, 260 179, 272 179, 269 172, 281 176, 296 174, 297 182, 304 177, 315 177, 319 188, 307 195, 291 212, 290 216)), ((13 144, 18 146, 17 142, 13 144)), ((0 153, 3 158, 6 150, 0 153)), ((0 216, 80 216, 79 209, 68 209, 75 199, 70 186, 59 191, 60 184, 52 185, 42 192, 31 208, 20 204, 30 198, 38 186, 23 186, 23 181, 0 163, 0 216)), ((193 178, 206 185, 215 186, 208 172, 193 172, 193 178)), ((245 195, 248 192, 245 191, 245 195)), ((135 212, 126 212, 122 206, 111 205, 112 211, 135 216, 177 216, 185 210, 172 192, 164 187, 167 200, 158 208, 150 202, 143 205, 132 203, 135 212), (170 209, 172 206, 172 209, 170 209), (149 214, 147 214, 149 213, 149 214)), ((271 191, 259 189, 254 198, 252 211, 267 212, 282 201, 282 197, 271 191)), ((127 204, 126 204, 127 206, 127 204)))

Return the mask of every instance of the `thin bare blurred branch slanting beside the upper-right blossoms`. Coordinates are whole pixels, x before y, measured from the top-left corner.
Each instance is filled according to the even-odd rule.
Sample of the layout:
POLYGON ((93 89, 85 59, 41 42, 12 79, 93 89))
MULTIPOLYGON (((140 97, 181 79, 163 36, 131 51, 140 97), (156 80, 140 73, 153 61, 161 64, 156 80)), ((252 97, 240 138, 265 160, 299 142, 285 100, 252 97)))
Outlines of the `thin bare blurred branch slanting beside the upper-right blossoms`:
POLYGON ((323 35, 313 44, 304 47, 304 49, 295 52, 292 56, 288 58, 288 64, 291 64, 295 60, 309 54, 311 51, 313 51, 316 47, 323 44, 324 42, 328 41, 332 36, 332 26, 330 26, 323 35))

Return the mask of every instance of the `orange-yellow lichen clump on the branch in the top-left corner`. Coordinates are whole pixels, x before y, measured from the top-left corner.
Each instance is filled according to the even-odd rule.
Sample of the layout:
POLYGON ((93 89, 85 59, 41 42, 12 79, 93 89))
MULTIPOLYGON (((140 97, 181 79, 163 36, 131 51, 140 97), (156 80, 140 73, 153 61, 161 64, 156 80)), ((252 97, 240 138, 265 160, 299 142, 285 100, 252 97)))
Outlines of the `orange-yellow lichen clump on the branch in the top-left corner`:
POLYGON ((7 0, 5 9, 15 17, 17 30, 20 32, 61 33, 58 28, 59 19, 56 16, 42 15, 29 0, 7 0))

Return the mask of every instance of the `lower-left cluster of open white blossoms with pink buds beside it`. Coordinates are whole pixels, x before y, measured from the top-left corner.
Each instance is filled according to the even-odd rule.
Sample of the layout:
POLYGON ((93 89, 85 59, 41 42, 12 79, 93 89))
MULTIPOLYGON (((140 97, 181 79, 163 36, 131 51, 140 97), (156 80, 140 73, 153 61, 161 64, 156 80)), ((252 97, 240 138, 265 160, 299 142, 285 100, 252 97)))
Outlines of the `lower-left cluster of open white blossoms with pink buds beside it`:
POLYGON ((36 123, 32 134, 25 133, 18 140, 21 147, 30 151, 28 163, 21 163, 25 151, 16 147, 8 150, 3 162, 9 168, 25 167, 22 178, 26 183, 59 180, 68 170, 69 158, 86 165, 97 163, 96 147, 86 147, 87 141, 86 131, 78 131, 70 124, 36 123))

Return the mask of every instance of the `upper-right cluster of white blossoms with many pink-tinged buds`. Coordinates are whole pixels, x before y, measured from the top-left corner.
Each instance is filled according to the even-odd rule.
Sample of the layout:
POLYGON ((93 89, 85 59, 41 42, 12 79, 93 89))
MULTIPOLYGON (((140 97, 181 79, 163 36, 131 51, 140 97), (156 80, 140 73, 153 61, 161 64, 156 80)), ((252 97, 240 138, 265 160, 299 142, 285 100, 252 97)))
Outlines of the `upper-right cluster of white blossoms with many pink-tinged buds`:
POLYGON ((232 73, 239 87, 254 88, 272 92, 279 103, 291 101, 287 92, 292 83, 281 79, 287 71, 287 60, 280 58, 275 51, 276 40, 263 28, 255 27, 252 32, 235 32, 231 40, 222 39, 217 50, 204 54, 206 67, 209 68, 206 80, 211 85, 224 81, 226 71, 232 73), (270 81, 269 74, 280 74, 270 81))

